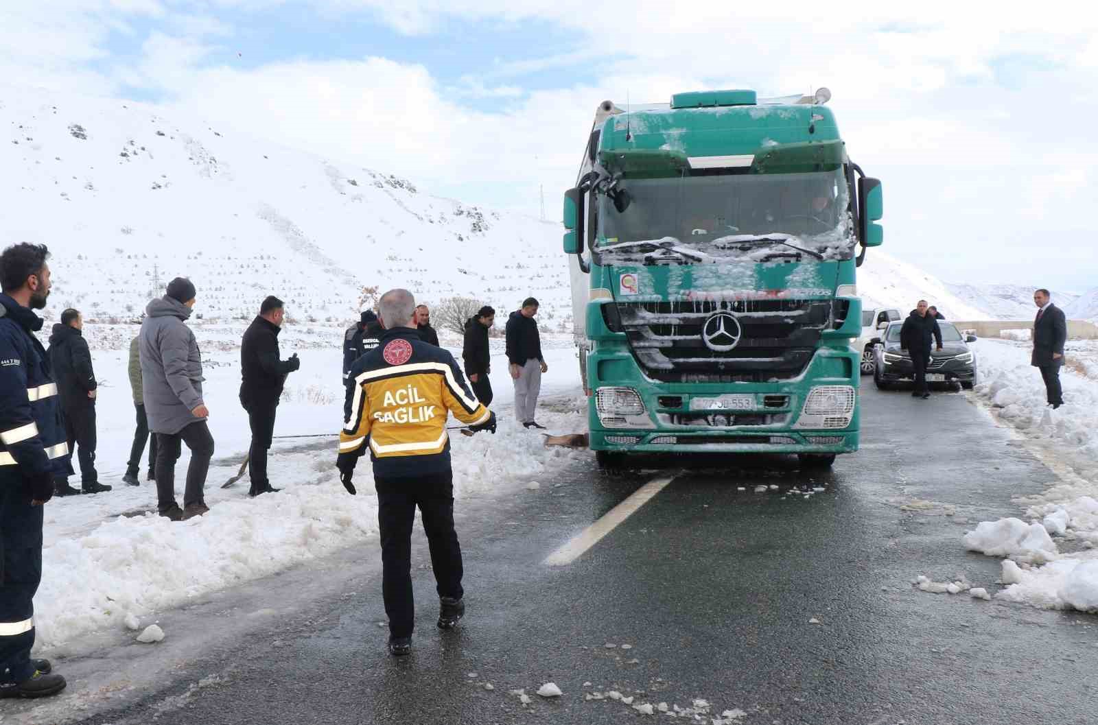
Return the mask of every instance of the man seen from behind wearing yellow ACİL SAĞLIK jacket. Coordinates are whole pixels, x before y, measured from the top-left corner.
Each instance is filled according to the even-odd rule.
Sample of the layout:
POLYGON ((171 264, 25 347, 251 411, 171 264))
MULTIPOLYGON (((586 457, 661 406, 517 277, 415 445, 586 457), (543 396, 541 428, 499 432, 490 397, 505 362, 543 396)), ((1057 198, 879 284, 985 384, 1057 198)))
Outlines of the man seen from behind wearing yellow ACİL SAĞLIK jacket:
POLYGON ((470 430, 494 433, 495 414, 469 390, 453 355, 419 337, 411 292, 391 290, 378 307, 386 329, 380 344, 359 358, 348 375, 336 465, 347 491, 355 494, 355 464, 369 448, 378 490, 389 650, 400 656, 412 649, 412 524, 417 506, 438 584, 438 627, 450 630, 464 615, 446 420, 452 412, 470 430))

